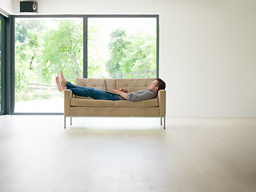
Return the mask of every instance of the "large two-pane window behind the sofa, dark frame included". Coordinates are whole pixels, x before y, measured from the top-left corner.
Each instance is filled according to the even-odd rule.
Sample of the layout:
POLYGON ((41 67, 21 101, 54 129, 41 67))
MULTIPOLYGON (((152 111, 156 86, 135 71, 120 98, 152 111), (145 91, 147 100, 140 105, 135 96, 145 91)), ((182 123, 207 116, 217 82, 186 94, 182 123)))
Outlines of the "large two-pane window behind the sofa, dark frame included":
POLYGON ((157 78, 158 16, 15 17, 14 113, 62 113, 59 70, 75 78, 157 78))

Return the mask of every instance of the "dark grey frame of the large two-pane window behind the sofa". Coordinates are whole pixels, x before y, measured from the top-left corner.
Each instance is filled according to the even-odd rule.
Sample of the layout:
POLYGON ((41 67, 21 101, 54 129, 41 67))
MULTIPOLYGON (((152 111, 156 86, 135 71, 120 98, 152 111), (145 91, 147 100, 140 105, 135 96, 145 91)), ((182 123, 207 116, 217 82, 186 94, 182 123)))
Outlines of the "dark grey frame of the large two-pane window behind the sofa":
POLYGON ((11 81, 10 81, 10 114, 39 114, 39 115, 53 115, 53 114, 63 114, 63 113, 14 113, 14 104, 15 104, 15 18, 83 18, 83 78, 88 77, 88 47, 87 47, 87 39, 88 39, 88 18, 155 18, 156 19, 156 78, 159 78, 159 14, 53 14, 53 15, 13 15, 10 17, 11 24, 11 38, 10 38, 10 73, 11 81))

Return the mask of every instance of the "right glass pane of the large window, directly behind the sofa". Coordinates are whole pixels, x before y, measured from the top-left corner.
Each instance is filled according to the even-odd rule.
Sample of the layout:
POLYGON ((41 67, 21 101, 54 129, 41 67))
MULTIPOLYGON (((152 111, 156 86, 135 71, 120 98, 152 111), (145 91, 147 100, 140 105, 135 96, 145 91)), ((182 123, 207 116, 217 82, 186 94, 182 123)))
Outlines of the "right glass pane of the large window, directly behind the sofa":
POLYGON ((89 18, 88 78, 156 78, 156 18, 89 18))

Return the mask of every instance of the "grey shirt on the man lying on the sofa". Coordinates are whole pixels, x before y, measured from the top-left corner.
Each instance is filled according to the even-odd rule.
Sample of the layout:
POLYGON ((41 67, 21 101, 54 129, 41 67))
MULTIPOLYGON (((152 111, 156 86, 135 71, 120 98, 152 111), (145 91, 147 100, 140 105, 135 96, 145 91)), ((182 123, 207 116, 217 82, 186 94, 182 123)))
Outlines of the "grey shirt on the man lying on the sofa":
POLYGON ((127 94, 128 101, 138 102, 142 100, 152 99, 157 97, 157 93, 153 90, 138 90, 127 94))

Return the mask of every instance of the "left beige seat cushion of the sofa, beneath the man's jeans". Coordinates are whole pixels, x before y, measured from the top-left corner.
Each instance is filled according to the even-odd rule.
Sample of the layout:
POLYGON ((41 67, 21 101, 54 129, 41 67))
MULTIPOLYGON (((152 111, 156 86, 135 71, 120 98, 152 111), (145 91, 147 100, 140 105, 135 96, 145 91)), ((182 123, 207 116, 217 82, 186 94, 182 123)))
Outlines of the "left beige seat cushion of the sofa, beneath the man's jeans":
POLYGON ((114 101, 72 98, 71 106, 93 106, 93 107, 94 106, 112 106, 114 107, 114 101))

